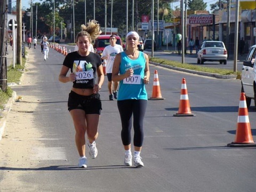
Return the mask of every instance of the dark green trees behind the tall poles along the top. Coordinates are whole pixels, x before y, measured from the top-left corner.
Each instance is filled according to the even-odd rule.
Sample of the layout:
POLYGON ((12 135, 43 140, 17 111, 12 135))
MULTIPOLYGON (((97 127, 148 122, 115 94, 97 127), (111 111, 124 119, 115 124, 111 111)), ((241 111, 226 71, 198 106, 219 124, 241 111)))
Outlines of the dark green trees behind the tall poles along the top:
MULTIPOLYGON (((35 7, 37 5, 37 34, 48 34, 50 36, 50 30, 53 28, 53 3, 55 2, 55 29, 61 29, 61 21, 67 26, 73 22, 73 4, 68 0, 44 0, 42 3, 35 3, 33 5, 33 26, 36 24, 35 7)), ((85 1, 74 1, 75 10, 75 33, 81 30, 81 25, 85 24, 85 1)), ((128 1, 128 26, 129 30, 132 30, 132 1, 128 1)), ((154 19, 157 19, 157 1, 154 1, 154 19)), ((165 20, 165 22, 172 22, 172 12, 170 9, 170 3, 174 0, 159 0, 159 19, 165 20)), ((126 31, 126 1, 115 0, 113 1, 113 27, 118 28, 118 32, 122 33, 126 31)), ((27 10, 27 12, 30 9, 27 10)), ((138 22, 141 22, 142 15, 151 15, 151 1, 148 0, 135 0, 134 1, 134 28, 138 22)), ((92 20, 94 17, 94 4, 93 1, 86 1, 86 22, 92 20)), ((95 20, 97 20, 101 27, 105 27, 105 0, 95 1, 95 20)), ((26 22, 26 28, 30 29, 30 17, 26 14, 24 16, 26 22)), ((111 24, 111 1, 107 0, 107 27, 111 24)), ((62 28, 65 28, 65 25, 62 28)), ((35 28, 35 27, 34 27, 35 28)), ((35 30, 35 29, 34 29, 35 30)), ((73 30, 73 26, 71 26, 73 30)), ((70 31, 67 31, 67 37, 70 37, 70 31)), ((35 34, 35 31, 34 33, 35 34)), ((57 33, 55 33, 57 34, 57 33)), ((39 36, 40 38, 41 36, 39 36)))

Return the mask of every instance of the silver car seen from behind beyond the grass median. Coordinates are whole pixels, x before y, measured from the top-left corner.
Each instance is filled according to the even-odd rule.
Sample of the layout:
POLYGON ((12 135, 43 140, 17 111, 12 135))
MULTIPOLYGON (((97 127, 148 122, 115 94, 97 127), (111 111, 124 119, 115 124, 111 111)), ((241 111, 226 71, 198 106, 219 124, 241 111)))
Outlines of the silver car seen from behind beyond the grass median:
POLYGON ((197 52, 197 64, 204 64, 205 61, 219 61, 220 64, 227 64, 228 51, 222 41, 205 41, 197 52))

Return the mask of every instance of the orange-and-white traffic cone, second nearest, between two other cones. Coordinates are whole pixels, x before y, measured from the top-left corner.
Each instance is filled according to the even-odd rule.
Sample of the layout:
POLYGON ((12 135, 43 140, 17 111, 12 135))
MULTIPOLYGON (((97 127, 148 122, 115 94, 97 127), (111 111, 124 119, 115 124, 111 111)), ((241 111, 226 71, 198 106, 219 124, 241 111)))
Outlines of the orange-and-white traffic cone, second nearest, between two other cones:
POLYGON ((196 116, 191 113, 189 100, 188 100, 188 90, 186 85, 186 79, 182 79, 181 90, 180 90, 180 106, 177 114, 173 116, 196 116))

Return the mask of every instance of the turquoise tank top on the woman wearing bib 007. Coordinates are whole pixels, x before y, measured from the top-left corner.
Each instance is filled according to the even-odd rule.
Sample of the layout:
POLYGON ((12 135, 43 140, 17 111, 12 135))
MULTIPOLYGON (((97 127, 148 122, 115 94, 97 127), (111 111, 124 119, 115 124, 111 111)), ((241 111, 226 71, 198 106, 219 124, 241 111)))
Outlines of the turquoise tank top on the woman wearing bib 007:
POLYGON ((126 70, 133 68, 133 76, 123 79, 119 84, 117 100, 144 99, 148 100, 148 94, 143 82, 146 59, 143 52, 139 52, 139 57, 130 59, 125 52, 121 52, 121 64, 119 74, 124 74, 126 70))

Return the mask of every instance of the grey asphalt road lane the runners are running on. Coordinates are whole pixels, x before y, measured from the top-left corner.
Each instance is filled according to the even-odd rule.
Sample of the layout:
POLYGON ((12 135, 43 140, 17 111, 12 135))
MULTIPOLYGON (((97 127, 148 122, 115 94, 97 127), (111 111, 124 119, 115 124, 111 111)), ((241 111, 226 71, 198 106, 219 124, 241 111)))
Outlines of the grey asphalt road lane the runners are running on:
MULTIPOLYGON (((238 79, 207 78, 150 65, 148 97, 157 70, 165 100, 148 101, 141 153, 145 167, 138 169, 123 166, 121 121, 116 101, 108 100, 106 78, 100 92, 103 110, 97 140, 99 154, 90 159, 87 151, 88 167, 78 169, 73 122, 67 111, 71 83, 58 82, 64 57, 52 49, 46 62, 39 49, 30 50, 32 54, 38 56, 29 60, 36 71, 26 75, 37 82, 36 86, 21 85, 13 90, 18 95, 38 97, 30 128, 42 134, 35 138, 43 142, 37 154, 42 158, 35 158, 28 150, 31 158, 27 161, 37 167, 4 167, 9 174, 23 171, 19 183, 28 191, 255 191, 256 147, 227 147, 236 134, 241 91, 238 79), (179 109, 182 78, 186 78, 194 117, 173 116, 179 109), (58 153, 53 155, 52 150, 58 153)), ((254 107, 249 109, 254 139, 255 113, 254 107)))

